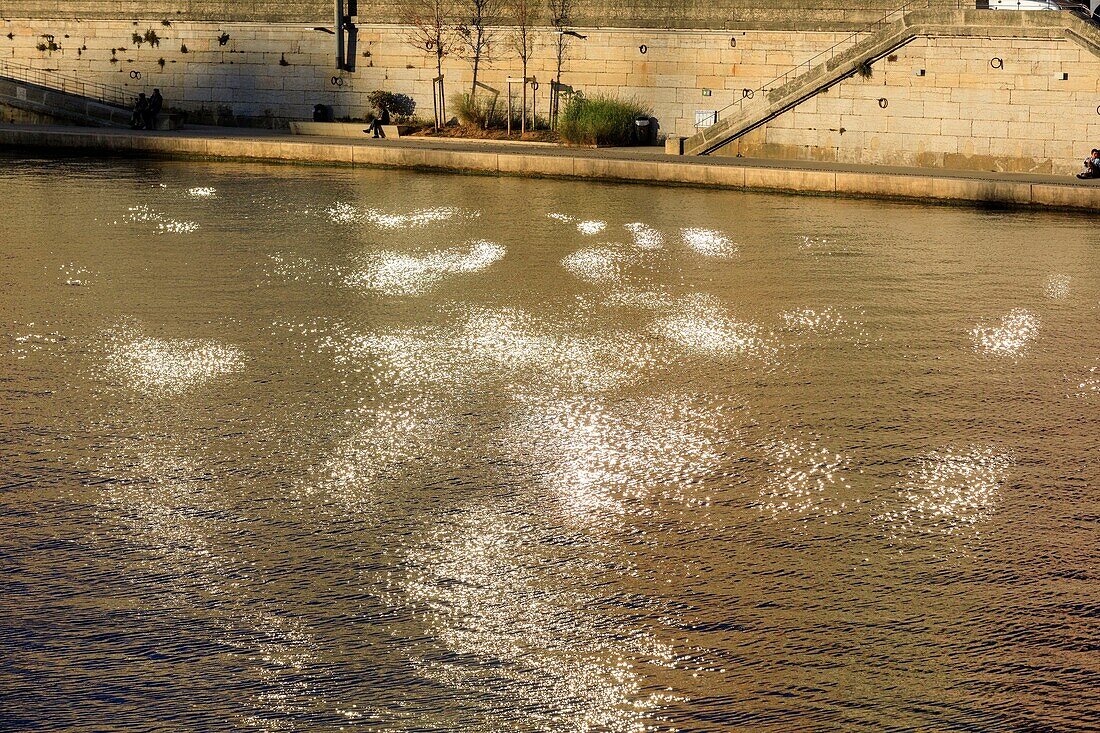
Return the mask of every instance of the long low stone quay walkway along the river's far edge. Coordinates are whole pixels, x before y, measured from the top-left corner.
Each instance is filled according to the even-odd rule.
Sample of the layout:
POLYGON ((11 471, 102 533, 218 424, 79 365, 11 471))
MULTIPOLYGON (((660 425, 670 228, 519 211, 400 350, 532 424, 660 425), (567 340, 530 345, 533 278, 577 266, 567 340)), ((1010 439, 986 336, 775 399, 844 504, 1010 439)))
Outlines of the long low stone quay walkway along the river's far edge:
MULTIPOLYGON (((1082 144, 1084 153, 1089 147, 1082 144)), ((0 125, 0 150, 375 166, 796 194, 1096 211, 1100 180, 978 171, 674 156, 659 147, 576 149, 436 138, 372 140, 234 128, 175 132, 0 125)))

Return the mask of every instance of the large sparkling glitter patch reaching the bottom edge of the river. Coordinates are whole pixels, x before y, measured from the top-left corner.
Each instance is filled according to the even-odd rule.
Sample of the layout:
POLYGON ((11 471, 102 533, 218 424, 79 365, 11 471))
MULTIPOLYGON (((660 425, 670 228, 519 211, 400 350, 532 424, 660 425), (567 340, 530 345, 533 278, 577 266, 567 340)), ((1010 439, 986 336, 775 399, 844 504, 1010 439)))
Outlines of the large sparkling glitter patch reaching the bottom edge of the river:
POLYGON ((553 553, 549 538, 537 516, 480 506, 421 537, 408 551, 411 575, 396 589, 397 602, 422 616, 447 653, 414 661, 448 688, 504 704, 525 700, 506 718, 480 713, 468 730, 649 730, 649 713, 667 694, 642 689, 638 660, 670 666, 672 648, 608 626, 590 611, 601 599, 583 584, 548 587, 549 568, 576 564, 553 553))

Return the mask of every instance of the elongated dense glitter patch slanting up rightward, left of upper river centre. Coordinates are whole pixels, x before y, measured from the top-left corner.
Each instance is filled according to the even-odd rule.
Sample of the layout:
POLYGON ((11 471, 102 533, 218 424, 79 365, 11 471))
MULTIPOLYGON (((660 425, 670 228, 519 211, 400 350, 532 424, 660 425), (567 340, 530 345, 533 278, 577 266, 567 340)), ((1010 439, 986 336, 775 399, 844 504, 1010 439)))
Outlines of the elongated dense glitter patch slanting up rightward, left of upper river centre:
POLYGON ((451 275, 485 270, 504 255, 503 247, 485 240, 420 255, 377 252, 370 255, 365 271, 348 275, 344 282, 387 295, 419 295, 451 275))

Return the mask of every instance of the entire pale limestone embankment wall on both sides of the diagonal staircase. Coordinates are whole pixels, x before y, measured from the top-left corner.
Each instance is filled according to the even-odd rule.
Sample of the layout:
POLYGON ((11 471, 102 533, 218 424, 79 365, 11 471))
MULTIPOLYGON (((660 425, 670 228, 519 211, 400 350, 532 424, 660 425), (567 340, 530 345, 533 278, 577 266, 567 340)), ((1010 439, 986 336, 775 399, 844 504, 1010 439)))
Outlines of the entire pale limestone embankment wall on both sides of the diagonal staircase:
MULTIPOLYGON (((697 119, 737 102, 746 89, 759 89, 799 64, 805 70, 826 50, 854 46, 865 37, 854 29, 901 2, 862 1, 855 10, 842 4, 587 0, 578 4, 575 26, 587 37, 570 44, 562 81, 590 95, 634 96, 653 108, 663 134, 689 136, 697 119)), ((1085 41, 1071 40, 1069 31, 1013 20, 1062 13, 964 13, 954 10, 956 3, 934 4, 943 9, 944 26, 966 17, 979 31, 919 37, 869 59, 869 77, 848 76, 814 91, 716 153, 1075 172, 1084 153, 1100 144, 1100 36, 1082 31, 1085 41), (1000 30, 985 33, 982 24, 1000 30)), ((331 105, 338 117, 362 117, 366 95, 387 89, 409 94, 431 116, 435 56, 410 43, 399 2, 360 2, 353 73, 336 69, 334 36, 315 30, 332 23, 330 3, 316 0, 9 0, 0 12, 0 61, 135 95, 158 87, 169 107, 212 114, 220 109, 227 119, 268 118, 278 125, 309 118, 317 103, 331 105)), ((529 68, 540 81, 540 114, 553 76, 553 39, 543 23, 529 68)), ((504 45, 498 41, 481 74, 502 90, 506 77, 519 75, 504 45)), ((468 62, 450 55, 443 70, 449 95, 468 90, 468 62)), ((24 119, 3 108, 0 114, 24 119)))

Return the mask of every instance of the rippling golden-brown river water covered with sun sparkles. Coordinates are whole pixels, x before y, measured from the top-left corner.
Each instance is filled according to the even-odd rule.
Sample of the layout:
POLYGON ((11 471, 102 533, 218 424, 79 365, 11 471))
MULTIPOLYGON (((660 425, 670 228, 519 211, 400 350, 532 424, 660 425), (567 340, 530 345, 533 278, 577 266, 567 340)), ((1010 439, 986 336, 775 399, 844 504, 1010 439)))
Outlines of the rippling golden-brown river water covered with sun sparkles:
POLYGON ((2 163, 4 731, 1100 730, 1091 218, 2 163))

